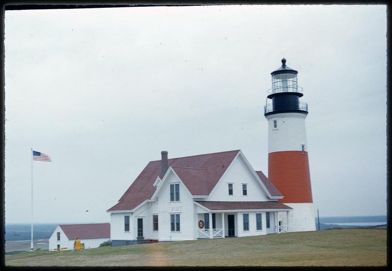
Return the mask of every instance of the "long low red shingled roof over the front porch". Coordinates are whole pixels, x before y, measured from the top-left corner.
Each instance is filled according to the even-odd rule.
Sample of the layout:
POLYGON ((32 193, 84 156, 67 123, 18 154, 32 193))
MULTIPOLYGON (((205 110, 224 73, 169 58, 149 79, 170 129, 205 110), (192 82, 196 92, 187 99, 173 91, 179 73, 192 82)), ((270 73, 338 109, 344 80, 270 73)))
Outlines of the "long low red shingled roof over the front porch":
POLYGON ((278 201, 195 201, 209 210, 293 209, 278 201))

